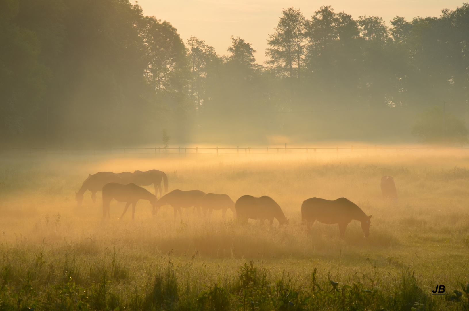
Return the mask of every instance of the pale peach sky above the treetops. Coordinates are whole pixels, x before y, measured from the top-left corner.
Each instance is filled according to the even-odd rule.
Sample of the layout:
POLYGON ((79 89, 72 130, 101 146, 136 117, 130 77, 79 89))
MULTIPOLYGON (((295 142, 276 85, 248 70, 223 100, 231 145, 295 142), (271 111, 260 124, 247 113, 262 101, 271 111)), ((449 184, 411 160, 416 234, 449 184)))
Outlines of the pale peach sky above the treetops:
POLYGON ((184 43, 196 36, 227 54, 231 35, 251 43, 258 63, 265 61, 268 35, 274 32, 283 8, 300 8, 306 18, 321 6, 332 5, 354 19, 380 16, 389 25, 394 16, 410 21, 414 17, 439 16, 444 8, 462 5, 456 0, 139 0, 144 14, 170 22, 184 43))

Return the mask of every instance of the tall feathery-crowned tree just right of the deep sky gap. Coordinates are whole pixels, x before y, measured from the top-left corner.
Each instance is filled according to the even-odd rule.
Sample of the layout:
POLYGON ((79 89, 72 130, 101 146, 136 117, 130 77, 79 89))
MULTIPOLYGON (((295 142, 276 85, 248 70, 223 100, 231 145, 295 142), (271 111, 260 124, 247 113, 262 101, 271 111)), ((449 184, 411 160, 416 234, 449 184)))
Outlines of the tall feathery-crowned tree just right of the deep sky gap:
POLYGON ((267 61, 280 73, 287 73, 290 79, 290 96, 294 96, 293 79, 300 80, 305 54, 305 23, 306 19, 299 9, 288 8, 282 11, 275 32, 269 35, 265 55, 267 61), (295 72, 296 71, 296 72, 295 72))

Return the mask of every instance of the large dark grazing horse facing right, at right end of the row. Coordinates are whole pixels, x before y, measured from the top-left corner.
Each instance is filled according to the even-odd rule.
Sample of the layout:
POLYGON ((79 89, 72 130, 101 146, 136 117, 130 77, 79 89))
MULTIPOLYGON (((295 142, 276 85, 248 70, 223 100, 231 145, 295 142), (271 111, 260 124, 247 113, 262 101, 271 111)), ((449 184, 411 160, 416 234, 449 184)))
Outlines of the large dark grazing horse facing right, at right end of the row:
POLYGON ((306 223, 308 231, 315 220, 323 224, 338 224, 341 238, 344 237, 345 228, 352 220, 362 222, 363 233, 368 237, 371 216, 366 216, 363 210, 346 198, 334 201, 310 198, 301 204, 301 219, 306 223))

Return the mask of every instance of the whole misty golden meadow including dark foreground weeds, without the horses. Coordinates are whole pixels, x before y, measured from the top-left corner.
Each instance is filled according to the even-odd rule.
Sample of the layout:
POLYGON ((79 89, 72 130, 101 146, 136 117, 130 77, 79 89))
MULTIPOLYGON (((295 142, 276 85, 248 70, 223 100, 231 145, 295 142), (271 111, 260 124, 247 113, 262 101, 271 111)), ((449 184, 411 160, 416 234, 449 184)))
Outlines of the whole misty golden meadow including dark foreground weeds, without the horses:
MULTIPOLYGON (((152 186, 146 187, 152 193, 152 186)), ((41 155, 0 157, 0 310, 469 310, 469 156, 41 155), (238 224, 231 211, 136 219, 101 194, 78 208, 89 173, 158 169, 169 190, 269 195, 289 218, 238 224), (393 176, 399 201, 383 200, 393 176), (346 197, 371 218, 301 224, 310 197, 346 197), (431 295, 445 285, 446 295, 431 295)))

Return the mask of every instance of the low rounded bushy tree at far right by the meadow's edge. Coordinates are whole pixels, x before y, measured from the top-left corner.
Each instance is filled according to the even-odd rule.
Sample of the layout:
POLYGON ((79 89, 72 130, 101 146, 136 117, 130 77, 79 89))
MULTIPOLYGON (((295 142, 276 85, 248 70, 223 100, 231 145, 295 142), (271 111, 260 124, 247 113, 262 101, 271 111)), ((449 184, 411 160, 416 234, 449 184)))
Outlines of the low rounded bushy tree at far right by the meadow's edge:
POLYGON ((445 114, 438 106, 419 114, 412 128, 412 134, 424 144, 463 145, 468 142, 468 133, 464 120, 445 114))

